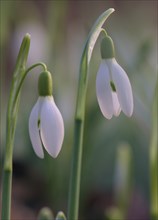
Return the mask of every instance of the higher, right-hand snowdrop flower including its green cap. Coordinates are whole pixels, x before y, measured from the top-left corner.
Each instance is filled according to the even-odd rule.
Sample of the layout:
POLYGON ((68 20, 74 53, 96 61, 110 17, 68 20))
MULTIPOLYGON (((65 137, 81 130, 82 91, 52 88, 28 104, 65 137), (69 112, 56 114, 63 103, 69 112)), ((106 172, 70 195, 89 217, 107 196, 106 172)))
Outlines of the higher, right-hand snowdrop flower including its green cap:
POLYGON ((107 119, 118 116, 121 110, 130 117, 133 113, 133 94, 126 72, 114 58, 113 41, 105 36, 101 43, 102 62, 96 78, 96 94, 102 114, 107 119))

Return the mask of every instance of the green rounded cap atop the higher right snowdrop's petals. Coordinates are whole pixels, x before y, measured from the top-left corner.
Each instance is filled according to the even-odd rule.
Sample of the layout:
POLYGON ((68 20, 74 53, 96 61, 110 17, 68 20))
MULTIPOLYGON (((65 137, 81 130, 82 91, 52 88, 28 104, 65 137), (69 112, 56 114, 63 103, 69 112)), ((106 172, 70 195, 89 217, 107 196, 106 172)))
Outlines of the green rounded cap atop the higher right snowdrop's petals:
POLYGON ((102 59, 111 59, 115 57, 114 43, 111 37, 105 36, 101 42, 102 59))

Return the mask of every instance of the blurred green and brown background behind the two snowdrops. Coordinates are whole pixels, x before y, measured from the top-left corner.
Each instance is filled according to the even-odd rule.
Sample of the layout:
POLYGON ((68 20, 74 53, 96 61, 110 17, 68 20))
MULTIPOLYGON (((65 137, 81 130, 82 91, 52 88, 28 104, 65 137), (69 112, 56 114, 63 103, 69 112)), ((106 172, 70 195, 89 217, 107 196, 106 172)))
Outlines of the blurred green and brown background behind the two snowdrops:
POLYGON ((157 1, 1 0, 0 6, 0 171, 9 89, 25 33, 31 34, 28 66, 39 61, 47 65, 53 76, 53 95, 65 123, 65 139, 58 158, 54 160, 46 152, 43 160, 37 158, 28 135, 29 114, 38 98, 41 70, 37 68, 27 76, 20 101, 14 146, 12 219, 36 219, 43 206, 49 206, 54 214, 59 210, 67 213, 80 58, 92 24, 109 7, 115 8, 115 12, 104 27, 114 40, 116 59, 130 78, 134 113, 131 118, 121 113, 118 118, 106 120, 99 110, 95 79, 101 62, 100 37, 89 69, 80 219, 107 219, 109 209, 119 207, 117 195, 123 194, 121 187, 129 163, 124 153, 121 160, 125 163, 119 165, 119 149, 123 152, 129 149, 131 158, 126 219, 149 219, 149 147, 158 58, 157 1))

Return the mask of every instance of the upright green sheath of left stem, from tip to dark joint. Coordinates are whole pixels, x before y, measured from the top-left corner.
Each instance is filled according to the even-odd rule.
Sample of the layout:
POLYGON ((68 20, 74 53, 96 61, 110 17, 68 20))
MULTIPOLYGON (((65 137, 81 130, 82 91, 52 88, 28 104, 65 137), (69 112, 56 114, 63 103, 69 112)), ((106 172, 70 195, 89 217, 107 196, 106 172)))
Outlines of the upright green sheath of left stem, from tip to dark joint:
POLYGON ((17 93, 23 75, 25 74, 26 62, 30 48, 30 35, 26 34, 23 38, 18 58, 13 72, 13 80, 7 109, 7 140, 6 140, 6 160, 5 169, 12 169, 12 145, 14 142, 15 126, 18 115, 20 93, 17 93))

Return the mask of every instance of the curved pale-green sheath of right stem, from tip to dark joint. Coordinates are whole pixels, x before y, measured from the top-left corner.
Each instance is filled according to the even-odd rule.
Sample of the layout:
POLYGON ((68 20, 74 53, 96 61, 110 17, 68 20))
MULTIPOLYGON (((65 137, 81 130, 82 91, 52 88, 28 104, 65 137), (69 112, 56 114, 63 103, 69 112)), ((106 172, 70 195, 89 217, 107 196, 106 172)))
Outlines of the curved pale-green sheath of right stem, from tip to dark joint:
POLYGON ((79 90, 78 90, 78 99, 77 99, 77 108, 76 108, 76 118, 78 119, 82 118, 82 115, 84 114, 85 98, 86 98, 85 96, 86 96, 86 90, 88 84, 88 68, 89 68, 92 52, 95 43, 99 37, 99 34, 102 31, 102 26, 104 22, 114 11, 115 10, 113 8, 110 8, 99 16, 99 18, 94 23, 88 35, 84 47, 83 54, 81 57, 81 63, 80 63, 80 79, 79 79, 79 90))

